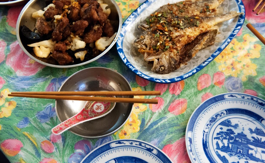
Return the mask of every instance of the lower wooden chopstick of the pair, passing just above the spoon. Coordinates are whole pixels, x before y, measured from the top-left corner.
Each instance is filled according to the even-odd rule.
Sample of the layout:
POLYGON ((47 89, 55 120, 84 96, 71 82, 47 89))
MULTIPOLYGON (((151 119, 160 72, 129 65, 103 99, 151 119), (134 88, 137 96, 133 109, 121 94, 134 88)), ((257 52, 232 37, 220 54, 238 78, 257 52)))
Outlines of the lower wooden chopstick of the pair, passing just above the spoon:
POLYGON ((117 102, 117 103, 151 103, 157 104, 157 99, 140 99, 140 98, 118 98, 118 97, 84 97, 84 96, 64 96, 64 95, 34 95, 34 94, 8 94, 12 97, 30 97, 45 98, 56 100, 80 100, 80 101, 98 101, 98 102, 117 102))

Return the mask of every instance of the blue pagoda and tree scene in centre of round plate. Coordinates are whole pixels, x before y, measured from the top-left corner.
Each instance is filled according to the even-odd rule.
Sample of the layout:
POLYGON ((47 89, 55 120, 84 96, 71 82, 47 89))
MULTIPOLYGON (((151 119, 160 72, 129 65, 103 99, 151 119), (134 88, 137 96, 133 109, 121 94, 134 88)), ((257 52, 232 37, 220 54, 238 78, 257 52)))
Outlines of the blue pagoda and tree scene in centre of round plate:
POLYGON ((257 127, 257 121, 231 119, 237 123, 226 119, 214 131, 213 146, 218 158, 224 163, 230 163, 231 160, 237 160, 231 163, 265 162, 264 129, 257 127))

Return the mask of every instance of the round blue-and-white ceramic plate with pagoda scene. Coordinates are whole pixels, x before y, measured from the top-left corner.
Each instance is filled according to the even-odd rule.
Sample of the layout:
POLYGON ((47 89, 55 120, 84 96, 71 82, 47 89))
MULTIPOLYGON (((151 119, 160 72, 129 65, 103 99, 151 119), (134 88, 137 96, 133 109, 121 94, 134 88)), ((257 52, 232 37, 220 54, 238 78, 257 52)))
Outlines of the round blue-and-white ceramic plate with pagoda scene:
POLYGON ((265 162, 265 100, 220 94, 201 103, 186 129, 192 162, 265 162))

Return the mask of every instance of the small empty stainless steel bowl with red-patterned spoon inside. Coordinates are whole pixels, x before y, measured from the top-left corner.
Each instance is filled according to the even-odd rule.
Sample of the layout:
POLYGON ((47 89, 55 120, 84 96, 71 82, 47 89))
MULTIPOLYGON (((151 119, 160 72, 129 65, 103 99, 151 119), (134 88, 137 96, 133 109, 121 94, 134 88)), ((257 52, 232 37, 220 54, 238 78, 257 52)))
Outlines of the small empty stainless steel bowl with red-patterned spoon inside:
MULTIPOLYGON (((59 91, 132 91, 129 82, 118 72, 104 67, 80 70, 62 84, 59 91)), ((116 96, 133 98, 133 96, 116 96)), ((86 101, 56 100, 55 110, 62 122, 80 112, 86 101)), ((69 131, 87 138, 99 138, 114 134, 129 119, 133 103, 116 103, 114 109, 104 117, 87 121, 70 128, 69 131)), ((67 131, 66 131, 67 132, 67 131)))

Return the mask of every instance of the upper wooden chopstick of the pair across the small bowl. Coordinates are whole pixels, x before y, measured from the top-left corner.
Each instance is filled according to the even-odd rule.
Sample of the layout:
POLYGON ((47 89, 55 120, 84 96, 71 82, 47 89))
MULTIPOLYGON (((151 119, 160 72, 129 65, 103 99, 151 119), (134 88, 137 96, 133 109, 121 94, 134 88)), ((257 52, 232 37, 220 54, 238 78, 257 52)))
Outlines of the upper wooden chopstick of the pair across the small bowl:
POLYGON ((161 95, 161 91, 60 91, 60 92, 11 92, 11 94, 35 94, 35 95, 69 95, 69 96, 139 96, 139 95, 161 95))

